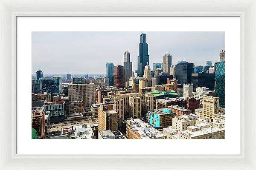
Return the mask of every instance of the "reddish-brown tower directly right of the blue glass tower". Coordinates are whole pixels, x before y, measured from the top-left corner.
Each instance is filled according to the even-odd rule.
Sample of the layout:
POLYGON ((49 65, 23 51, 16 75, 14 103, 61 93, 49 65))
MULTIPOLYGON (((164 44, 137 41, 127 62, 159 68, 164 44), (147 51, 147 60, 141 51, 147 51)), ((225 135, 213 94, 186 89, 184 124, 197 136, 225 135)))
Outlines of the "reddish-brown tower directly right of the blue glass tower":
POLYGON ((124 88, 124 67, 122 65, 114 66, 114 87, 124 88))

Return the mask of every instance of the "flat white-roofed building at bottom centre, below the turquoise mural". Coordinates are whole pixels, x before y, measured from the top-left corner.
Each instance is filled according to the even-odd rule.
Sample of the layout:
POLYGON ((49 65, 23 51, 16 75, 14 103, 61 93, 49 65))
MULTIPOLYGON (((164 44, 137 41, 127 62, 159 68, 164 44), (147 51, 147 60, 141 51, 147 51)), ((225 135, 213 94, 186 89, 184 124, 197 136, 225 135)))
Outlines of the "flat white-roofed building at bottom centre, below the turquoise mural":
POLYGON ((126 121, 127 139, 166 139, 166 135, 140 119, 126 121))

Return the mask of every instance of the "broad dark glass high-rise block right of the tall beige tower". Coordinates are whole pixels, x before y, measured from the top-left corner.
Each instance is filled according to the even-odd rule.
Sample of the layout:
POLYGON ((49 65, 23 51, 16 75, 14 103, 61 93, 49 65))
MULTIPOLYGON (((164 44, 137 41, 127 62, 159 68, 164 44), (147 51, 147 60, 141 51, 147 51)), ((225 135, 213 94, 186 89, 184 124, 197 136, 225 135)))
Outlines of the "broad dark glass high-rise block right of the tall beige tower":
POLYGON ((176 65, 176 79, 178 84, 191 84, 191 74, 193 71, 192 62, 183 62, 176 65))

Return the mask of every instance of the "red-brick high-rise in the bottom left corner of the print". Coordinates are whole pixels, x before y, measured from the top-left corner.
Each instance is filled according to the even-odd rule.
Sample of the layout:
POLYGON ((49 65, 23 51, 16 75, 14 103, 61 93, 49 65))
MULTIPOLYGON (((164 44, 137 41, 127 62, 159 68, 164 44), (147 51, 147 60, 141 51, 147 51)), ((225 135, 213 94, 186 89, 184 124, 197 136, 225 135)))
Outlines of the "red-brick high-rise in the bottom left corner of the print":
POLYGON ((39 107, 32 111, 32 128, 37 131, 38 139, 45 139, 44 115, 44 107, 39 107))

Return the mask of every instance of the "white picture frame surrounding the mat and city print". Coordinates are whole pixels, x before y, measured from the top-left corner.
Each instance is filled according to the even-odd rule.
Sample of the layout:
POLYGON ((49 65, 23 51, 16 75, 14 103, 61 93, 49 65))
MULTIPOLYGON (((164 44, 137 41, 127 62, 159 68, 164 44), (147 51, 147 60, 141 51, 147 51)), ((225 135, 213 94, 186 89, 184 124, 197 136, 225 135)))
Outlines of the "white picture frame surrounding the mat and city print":
MULTIPOLYGON (((256 169, 256 1, 0 1, 0 169, 256 169), (125 6, 125 8, 124 8, 125 6), (241 154, 17 155, 17 16, 239 16, 241 19, 241 154)), ((238 83, 238 82, 237 82, 238 83)))

